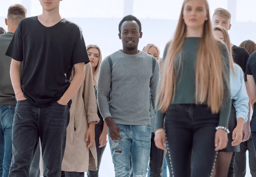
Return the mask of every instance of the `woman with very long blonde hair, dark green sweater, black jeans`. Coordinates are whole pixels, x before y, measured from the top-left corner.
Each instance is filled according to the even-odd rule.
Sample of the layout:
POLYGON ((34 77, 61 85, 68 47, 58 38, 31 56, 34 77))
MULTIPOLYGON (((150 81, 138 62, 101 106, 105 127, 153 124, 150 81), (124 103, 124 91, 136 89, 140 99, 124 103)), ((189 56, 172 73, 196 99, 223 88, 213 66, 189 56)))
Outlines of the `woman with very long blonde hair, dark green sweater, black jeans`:
POLYGON ((167 144, 173 177, 210 177, 227 146, 229 57, 212 34, 207 0, 184 0, 163 55, 156 111, 155 143, 163 150, 167 144))

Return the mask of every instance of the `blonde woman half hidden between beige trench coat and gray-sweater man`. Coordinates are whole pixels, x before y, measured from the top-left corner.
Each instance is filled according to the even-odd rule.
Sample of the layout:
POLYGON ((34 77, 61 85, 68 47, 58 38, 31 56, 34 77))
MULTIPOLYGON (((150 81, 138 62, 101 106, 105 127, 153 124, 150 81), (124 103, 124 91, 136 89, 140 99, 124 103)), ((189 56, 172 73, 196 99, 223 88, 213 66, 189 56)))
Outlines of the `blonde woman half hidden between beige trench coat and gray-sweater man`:
MULTIPOLYGON (((93 86, 95 94, 97 95, 97 84, 99 78, 99 68, 102 62, 102 53, 99 46, 88 45, 87 51, 90 59, 90 64, 92 66, 93 72, 93 86)), ((102 160, 102 155, 105 150, 106 144, 108 142, 107 124, 103 121, 102 115, 98 108, 99 123, 95 125, 95 143, 97 150, 97 161, 98 169, 96 171, 88 170, 87 177, 99 177, 99 166, 102 160)))

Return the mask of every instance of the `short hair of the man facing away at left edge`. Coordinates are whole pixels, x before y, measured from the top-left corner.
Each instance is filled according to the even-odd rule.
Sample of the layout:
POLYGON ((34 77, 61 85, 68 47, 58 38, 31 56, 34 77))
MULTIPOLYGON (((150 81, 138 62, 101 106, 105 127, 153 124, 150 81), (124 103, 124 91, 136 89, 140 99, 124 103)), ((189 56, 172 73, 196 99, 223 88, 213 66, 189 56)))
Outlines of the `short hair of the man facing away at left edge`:
POLYGON ((7 19, 19 22, 23 18, 26 18, 26 15, 27 10, 24 6, 21 4, 14 4, 8 8, 7 19))

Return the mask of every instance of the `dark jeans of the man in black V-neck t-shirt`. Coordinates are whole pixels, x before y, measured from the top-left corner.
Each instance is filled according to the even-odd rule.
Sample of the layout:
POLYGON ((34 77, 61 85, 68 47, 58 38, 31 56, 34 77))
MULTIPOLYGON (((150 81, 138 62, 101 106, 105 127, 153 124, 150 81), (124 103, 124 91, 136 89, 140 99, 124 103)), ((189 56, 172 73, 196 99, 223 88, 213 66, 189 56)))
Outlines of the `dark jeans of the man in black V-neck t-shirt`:
POLYGON ((66 145, 69 107, 57 101, 38 108, 28 100, 17 101, 12 128, 12 163, 9 177, 29 177, 29 168, 40 136, 44 177, 60 177, 66 145))

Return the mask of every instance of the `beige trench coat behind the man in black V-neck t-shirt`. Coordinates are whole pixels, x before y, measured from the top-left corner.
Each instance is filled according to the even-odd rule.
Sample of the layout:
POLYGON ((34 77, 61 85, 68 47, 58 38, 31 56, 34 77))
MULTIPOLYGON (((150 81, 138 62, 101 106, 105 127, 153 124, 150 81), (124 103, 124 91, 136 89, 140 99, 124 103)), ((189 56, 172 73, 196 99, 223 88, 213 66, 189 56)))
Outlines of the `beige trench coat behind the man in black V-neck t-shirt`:
MULTIPOLYGON (((96 95, 90 63, 85 65, 85 79, 78 92, 72 98, 70 122, 67 126, 67 141, 62 161, 62 171, 86 172, 97 170, 97 152, 95 142, 87 149, 85 134, 88 124, 99 121, 96 95), (76 127, 76 131, 74 130, 76 127)), ((43 166, 41 163, 41 173, 43 166)))

